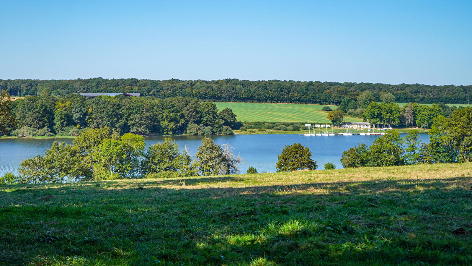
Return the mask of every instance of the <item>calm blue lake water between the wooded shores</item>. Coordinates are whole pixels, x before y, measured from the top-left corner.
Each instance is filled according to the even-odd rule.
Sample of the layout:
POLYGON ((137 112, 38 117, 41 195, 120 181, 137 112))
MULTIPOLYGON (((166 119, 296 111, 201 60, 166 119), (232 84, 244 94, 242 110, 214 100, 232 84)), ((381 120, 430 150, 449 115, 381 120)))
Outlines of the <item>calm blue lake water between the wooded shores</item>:
MULTIPOLYGON (((403 137, 406 134, 401 134, 403 137)), ((167 136, 169 137, 169 136, 167 136)), ((342 168, 339 161, 341 154, 359 143, 370 146, 378 135, 374 136, 300 136, 296 134, 287 135, 229 135, 229 136, 209 136, 216 144, 229 144, 234 147, 234 154, 239 154, 245 161, 240 164, 241 173, 246 172, 249 166, 255 167, 258 172, 276 172, 275 164, 277 155, 282 152, 286 145, 301 143, 312 151, 313 160, 317 161, 318 169, 323 170, 325 163, 334 163, 336 168, 342 168)), ((159 141, 164 141, 165 136, 146 137, 146 146, 150 146, 159 141)), ((173 140, 183 150, 187 150, 191 155, 197 152, 201 145, 203 136, 172 136, 173 140)), ((428 143, 428 135, 420 134, 420 139, 428 143)), ((37 139, 37 138, 10 138, 0 139, 0 175, 7 172, 17 173, 22 160, 44 155, 54 141, 72 144, 71 138, 65 139, 37 139)))

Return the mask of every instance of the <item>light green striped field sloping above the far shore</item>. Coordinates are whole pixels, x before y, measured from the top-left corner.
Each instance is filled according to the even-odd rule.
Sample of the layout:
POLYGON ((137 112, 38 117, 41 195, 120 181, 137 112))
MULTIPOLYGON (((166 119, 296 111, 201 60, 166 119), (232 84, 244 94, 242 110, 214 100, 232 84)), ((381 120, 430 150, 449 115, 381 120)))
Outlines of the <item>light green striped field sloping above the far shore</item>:
MULTIPOLYGON (((325 122, 328 112, 321 111, 319 104, 290 103, 216 103, 219 110, 230 108, 239 121, 273 121, 273 122, 325 122)), ((330 106, 336 109, 336 106, 330 106)), ((362 119, 346 117, 345 122, 362 122, 362 119)))

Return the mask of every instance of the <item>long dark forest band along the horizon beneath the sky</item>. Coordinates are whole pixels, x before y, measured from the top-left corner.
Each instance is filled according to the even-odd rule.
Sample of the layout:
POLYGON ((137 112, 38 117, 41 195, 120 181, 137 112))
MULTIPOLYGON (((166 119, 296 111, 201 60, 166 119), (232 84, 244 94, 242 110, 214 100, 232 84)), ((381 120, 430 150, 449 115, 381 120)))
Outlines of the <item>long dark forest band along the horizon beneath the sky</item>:
POLYGON ((421 84, 372 84, 354 82, 281 81, 281 80, 150 80, 137 78, 104 79, 101 77, 74 80, 1 80, 0 90, 10 95, 67 95, 77 92, 128 92, 142 96, 194 97, 202 101, 316 103, 339 105, 344 98, 357 99, 370 91, 374 100, 382 93, 394 95, 397 103, 468 103, 472 85, 429 86, 421 84))

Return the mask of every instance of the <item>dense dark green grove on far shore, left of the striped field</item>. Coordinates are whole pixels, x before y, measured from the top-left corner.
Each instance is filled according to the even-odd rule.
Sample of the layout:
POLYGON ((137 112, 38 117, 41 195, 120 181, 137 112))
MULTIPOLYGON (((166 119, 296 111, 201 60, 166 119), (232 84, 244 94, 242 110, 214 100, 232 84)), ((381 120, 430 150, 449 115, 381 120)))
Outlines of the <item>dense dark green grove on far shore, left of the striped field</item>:
POLYGON ((77 136, 84 129, 100 127, 109 127, 120 135, 233 134, 232 129, 243 126, 231 109, 219 111, 214 103, 190 97, 118 95, 87 100, 80 94, 40 95, 8 102, 8 109, 9 117, 17 122, 8 129, 16 126, 11 135, 18 137, 77 136))

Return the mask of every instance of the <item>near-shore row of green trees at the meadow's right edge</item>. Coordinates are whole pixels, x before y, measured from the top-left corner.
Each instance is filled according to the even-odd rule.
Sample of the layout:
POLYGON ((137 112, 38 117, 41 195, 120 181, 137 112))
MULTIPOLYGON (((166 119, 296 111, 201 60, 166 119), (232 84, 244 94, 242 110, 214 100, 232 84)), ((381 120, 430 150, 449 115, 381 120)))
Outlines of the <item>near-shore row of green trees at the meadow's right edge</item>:
POLYGON ((419 163, 464 163, 472 160, 472 107, 457 109, 450 117, 433 119, 430 143, 421 143, 418 131, 405 138, 388 130, 371 146, 359 143, 343 152, 344 167, 396 166, 419 163))

